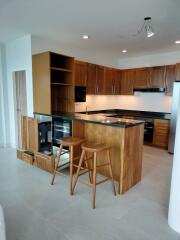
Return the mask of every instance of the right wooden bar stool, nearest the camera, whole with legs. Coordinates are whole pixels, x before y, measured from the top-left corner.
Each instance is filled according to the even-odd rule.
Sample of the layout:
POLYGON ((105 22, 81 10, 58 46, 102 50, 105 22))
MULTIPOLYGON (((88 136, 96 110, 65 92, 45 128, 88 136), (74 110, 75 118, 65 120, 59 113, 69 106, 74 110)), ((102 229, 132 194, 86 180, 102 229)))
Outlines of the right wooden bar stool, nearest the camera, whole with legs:
POLYGON ((99 185, 100 183, 106 182, 109 180, 109 178, 105 178, 102 181, 96 182, 96 169, 99 167, 104 167, 104 166, 109 166, 109 174, 110 174, 110 179, 112 182, 112 188, 113 188, 113 193, 116 195, 116 190, 115 190, 115 185, 114 185, 114 178, 113 178, 113 173, 112 173, 112 164, 111 164, 111 158, 110 158, 110 149, 111 147, 106 146, 101 143, 93 143, 93 142, 85 142, 81 145, 82 147, 82 153, 81 153, 81 158, 79 161, 79 165, 77 168, 77 172, 74 178, 74 185, 73 185, 73 193, 74 189, 78 180, 78 177, 81 175, 80 170, 82 168, 82 163, 84 161, 91 160, 93 168, 90 169, 93 172, 93 179, 92 179, 92 188, 93 188, 93 204, 92 207, 95 208, 96 206, 96 185, 99 185), (97 153, 106 151, 107 153, 107 163, 97 165, 97 153), (91 158, 86 158, 86 153, 92 153, 93 156, 91 158))

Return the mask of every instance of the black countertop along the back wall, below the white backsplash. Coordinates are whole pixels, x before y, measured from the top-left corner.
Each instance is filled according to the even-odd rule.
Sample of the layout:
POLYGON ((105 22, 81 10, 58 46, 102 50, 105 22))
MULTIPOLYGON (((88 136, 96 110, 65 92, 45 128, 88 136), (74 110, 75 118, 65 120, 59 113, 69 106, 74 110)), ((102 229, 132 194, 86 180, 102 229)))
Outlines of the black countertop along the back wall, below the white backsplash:
MULTIPOLYGON (((81 112, 85 114, 86 112, 81 112)), ((146 119, 164 119, 170 120, 171 114, 164 112, 149 112, 149 111, 138 111, 138 110, 124 110, 124 109, 107 109, 107 110, 97 110, 89 111, 88 114, 103 114, 104 116, 121 116, 126 118, 126 116, 133 116, 138 120, 146 119)))

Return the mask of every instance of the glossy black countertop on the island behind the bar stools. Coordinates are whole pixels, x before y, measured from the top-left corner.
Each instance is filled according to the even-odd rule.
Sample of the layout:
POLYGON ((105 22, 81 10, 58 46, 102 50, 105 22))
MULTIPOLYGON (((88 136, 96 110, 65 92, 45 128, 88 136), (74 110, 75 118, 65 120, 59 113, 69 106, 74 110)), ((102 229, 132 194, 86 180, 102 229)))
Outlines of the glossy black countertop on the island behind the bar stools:
MULTIPOLYGON (((141 120, 131 120, 131 119, 125 119, 125 118, 114 118, 114 117, 108 117, 109 114, 82 114, 82 113, 55 113, 55 114, 44 114, 39 112, 34 112, 36 115, 43 115, 43 116, 50 116, 53 118, 63 118, 65 120, 77 120, 77 121, 83 121, 83 122, 89 122, 89 123, 96 123, 96 124, 102 124, 106 126, 112 126, 112 127, 120 127, 120 128, 128 128, 133 127, 139 124, 144 124, 144 121, 141 120)), ((110 114, 111 115, 111 114, 110 114)))

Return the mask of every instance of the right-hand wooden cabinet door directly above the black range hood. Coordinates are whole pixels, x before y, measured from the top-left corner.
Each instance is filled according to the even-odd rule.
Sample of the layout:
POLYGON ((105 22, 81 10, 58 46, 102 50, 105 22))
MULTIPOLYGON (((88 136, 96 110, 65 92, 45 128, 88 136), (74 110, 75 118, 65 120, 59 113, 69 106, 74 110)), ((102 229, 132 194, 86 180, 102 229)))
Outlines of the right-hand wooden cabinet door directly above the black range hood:
POLYGON ((165 66, 150 68, 150 87, 165 88, 165 66))

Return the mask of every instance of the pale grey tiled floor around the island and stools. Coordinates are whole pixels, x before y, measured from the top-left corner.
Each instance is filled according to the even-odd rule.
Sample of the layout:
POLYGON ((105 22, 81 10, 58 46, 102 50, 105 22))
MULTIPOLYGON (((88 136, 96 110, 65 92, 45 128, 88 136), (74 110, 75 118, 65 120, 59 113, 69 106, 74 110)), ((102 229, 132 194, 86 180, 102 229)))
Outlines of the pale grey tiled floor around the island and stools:
POLYGON ((167 224, 172 156, 144 147, 143 177, 123 196, 114 197, 110 183, 97 189, 77 186, 16 159, 15 150, 0 149, 0 204, 7 240, 179 240, 167 224))

